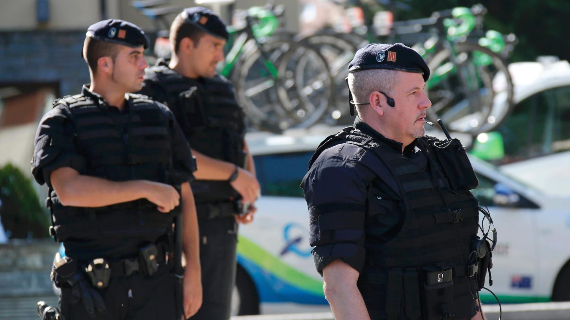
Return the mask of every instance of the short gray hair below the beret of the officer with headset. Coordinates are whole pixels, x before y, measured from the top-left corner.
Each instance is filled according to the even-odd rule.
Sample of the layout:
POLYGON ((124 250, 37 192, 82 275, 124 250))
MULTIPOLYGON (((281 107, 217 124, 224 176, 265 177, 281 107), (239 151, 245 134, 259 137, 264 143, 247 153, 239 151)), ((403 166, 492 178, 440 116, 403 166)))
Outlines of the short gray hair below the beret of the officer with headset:
MULTIPOLYGON (((368 103, 373 91, 382 91, 390 95, 398 80, 398 71, 392 69, 368 69, 348 73, 348 88, 352 99, 357 103, 368 103)), ((359 116, 368 105, 355 105, 359 116)))

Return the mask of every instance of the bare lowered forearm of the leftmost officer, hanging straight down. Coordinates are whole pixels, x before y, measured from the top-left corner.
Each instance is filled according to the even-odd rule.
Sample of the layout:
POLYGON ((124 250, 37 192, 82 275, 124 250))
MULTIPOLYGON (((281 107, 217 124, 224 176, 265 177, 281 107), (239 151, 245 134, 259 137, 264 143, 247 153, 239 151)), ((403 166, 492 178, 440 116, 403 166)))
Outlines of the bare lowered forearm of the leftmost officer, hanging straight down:
POLYGON ((200 273, 200 247, 198 246, 198 218, 194 195, 188 182, 182 184, 182 248, 186 256, 186 269, 200 273))

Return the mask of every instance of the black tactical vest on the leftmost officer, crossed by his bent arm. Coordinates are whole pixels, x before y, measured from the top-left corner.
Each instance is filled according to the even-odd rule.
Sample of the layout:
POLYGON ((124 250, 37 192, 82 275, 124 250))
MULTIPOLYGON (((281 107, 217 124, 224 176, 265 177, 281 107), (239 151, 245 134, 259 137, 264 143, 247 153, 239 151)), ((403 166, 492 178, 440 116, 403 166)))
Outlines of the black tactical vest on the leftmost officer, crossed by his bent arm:
MULTIPOLYGON (((82 174, 113 181, 162 182, 180 192, 180 185, 173 183, 173 117, 146 96, 129 93, 125 98, 125 113, 108 112, 108 106, 84 95, 54 102, 64 106, 74 125, 75 145, 86 160, 82 174)), ((58 241, 160 235, 172 227, 174 215, 180 212, 178 207, 164 214, 146 199, 98 208, 63 206, 52 190, 48 204, 58 241)))

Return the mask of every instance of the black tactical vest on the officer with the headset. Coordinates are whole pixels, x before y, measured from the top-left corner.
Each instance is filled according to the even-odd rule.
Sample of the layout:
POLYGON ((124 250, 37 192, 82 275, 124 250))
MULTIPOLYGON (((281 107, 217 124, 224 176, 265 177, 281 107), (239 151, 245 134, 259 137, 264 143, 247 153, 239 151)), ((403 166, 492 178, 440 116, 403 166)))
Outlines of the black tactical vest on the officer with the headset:
MULTIPOLYGON (((475 315, 477 286, 470 252, 478 231, 477 200, 468 190, 448 187, 449 170, 439 161, 437 141, 427 136, 418 141, 428 159, 427 170, 352 127, 321 143, 311 159, 310 165, 333 143, 352 143, 361 147, 355 157, 378 174, 376 179, 393 179, 397 184, 397 199, 378 196, 385 192, 379 192, 376 179, 368 186, 366 262, 358 286, 371 319, 471 319, 475 315), (400 231, 385 242, 377 226, 391 208, 405 212, 405 218, 400 231), (447 278, 450 274, 453 278, 447 278)), ((453 153, 461 155, 459 150, 453 153)), ((454 166, 474 177, 470 164, 458 160, 454 166)))

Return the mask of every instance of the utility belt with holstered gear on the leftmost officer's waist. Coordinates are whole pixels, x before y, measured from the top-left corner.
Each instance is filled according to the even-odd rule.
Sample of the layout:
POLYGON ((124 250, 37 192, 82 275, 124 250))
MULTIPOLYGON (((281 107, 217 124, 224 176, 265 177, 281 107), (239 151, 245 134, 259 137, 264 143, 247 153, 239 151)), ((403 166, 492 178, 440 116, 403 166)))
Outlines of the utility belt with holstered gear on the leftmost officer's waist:
POLYGON ((144 245, 139 248, 136 257, 117 261, 104 258, 75 261, 69 257, 62 259, 56 253, 51 280, 58 288, 70 288, 79 281, 88 280, 95 288, 105 289, 111 278, 128 277, 135 272, 150 277, 158 271, 158 266, 168 262, 167 248, 162 242, 144 245))

